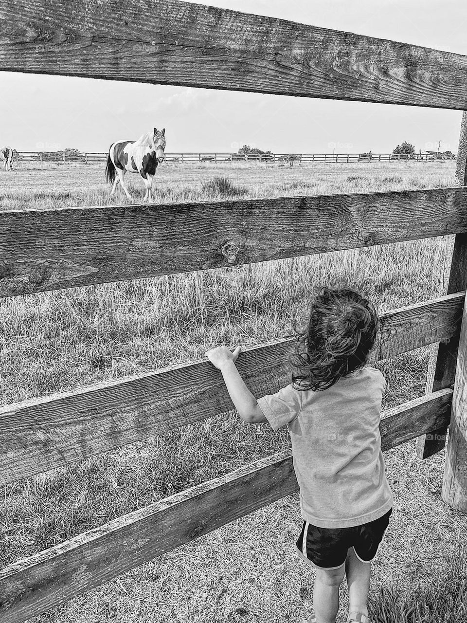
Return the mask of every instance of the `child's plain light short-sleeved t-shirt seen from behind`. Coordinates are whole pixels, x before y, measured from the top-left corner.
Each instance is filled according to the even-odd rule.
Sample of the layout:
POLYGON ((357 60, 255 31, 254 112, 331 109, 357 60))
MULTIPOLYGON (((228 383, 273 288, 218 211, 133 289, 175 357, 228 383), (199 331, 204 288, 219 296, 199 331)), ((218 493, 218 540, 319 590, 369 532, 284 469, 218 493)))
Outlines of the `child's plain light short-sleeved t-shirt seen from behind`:
POLYGON ((379 433, 385 386, 380 371, 367 367, 324 391, 290 384, 258 399, 274 430, 287 424, 301 516, 309 523, 348 528, 391 508, 379 433))

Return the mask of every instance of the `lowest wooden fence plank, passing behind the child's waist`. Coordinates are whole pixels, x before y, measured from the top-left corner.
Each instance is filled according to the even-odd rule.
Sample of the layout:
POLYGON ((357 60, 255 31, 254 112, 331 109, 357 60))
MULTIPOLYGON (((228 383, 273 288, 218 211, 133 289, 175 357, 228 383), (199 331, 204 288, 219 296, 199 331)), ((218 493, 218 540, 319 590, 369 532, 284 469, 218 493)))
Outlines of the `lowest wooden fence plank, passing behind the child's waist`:
MULTIPOLYGON (((387 411, 381 447, 395 447, 449 419, 451 389, 387 411)), ((19 623, 125 571, 248 515, 298 488, 281 452, 109 521, 0 571, 0 620, 19 623)))

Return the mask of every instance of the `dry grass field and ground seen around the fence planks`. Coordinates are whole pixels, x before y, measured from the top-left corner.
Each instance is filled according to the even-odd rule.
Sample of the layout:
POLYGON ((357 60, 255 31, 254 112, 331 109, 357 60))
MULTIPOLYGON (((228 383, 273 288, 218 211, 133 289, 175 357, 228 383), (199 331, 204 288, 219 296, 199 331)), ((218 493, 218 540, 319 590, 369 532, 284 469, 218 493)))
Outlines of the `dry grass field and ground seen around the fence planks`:
MULTIPOLYGON (((11 174, 0 172, 0 204, 3 210, 112 204, 103 168, 22 164, 11 174)), ((440 188, 453 185, 454 171, 455 163, 173 164, 158 169, 156 204, 440 188)), ((130 192, 141 199, 143 183, 130 174, 127 179, 130 192)), ((117 201, 125 200, 119 194, 117 201)), ((322 284, 349 283, 380 313, 438 297, 451 244, 452 237, 443 237, 3 299, 2 403, 191 361, 220 343, 252 345, 289 334, 309 292, 322 284)), ((378 364, 388 383, 385 409, 425 393, 432 348, 378 364)), ((243 425, 228 412, 12 483, 0 496, 0 566, 289 445, 286 430, 243 425)), ((441 501, 444 458, 440 452, 418 460, 415 440, 385 453, 395 507, 372 576, 380 609, 374 616, 382 623, 467 621, 462 559, 467 516, 441 501), (391 587, 400 587, 400 597, 386 592, 391 587), (463 601, 449 602, 462 591, 463 601), (411 599, 432 614, 395 614, 404 599, 406 614, 411 599), (453 619, 444 618, 455 608, 453 619)), ((300 621, 311 609, 313 587, 313 571, 292 551, 300 528, 298 495, 293 495, 34 621, 300 621)), ((342 587, 339 623, 345 620, 346 599, 342 587)))

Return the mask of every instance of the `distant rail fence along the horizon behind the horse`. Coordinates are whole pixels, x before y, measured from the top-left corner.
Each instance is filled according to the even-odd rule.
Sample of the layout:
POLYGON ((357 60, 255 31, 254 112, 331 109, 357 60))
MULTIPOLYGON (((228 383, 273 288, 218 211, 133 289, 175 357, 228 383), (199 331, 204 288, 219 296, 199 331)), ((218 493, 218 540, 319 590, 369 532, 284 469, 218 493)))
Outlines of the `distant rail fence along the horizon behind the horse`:
MULTIPOLYGON (((15 151, 16 161, 34 162, 81 162, 92 164, 101 162, 107 157, 103 151, 80 151, 78 153, 64 153, 63 151, 15 151)), ((166 154, 167 162, 194 163, 194 162, 265 162, 265 163, 354 163, 354 162, 384 162, 384 161, 433 161, 455 160, 456 155, 433 154, 238 154, 238 153, 170 153, 166 154)))

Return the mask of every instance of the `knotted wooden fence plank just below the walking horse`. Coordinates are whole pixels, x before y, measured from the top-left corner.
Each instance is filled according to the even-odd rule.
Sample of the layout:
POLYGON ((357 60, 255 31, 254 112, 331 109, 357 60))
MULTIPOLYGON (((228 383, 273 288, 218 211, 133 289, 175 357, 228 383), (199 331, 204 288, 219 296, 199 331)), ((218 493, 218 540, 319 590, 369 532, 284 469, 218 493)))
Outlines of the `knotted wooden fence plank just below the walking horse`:
POLYGON ((0 295, 467 232, 467 189, 0 212, 0 295))

